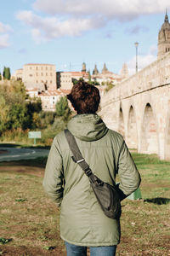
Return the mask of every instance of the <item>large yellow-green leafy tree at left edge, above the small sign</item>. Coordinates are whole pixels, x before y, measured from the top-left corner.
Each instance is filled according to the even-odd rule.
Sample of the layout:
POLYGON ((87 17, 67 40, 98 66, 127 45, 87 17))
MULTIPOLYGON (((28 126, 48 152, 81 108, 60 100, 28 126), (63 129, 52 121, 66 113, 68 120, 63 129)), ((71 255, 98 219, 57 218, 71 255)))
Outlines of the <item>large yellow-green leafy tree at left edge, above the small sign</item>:
POLYGON ((29 99, 21 81, 0 84, 0 131, 37 128, 38 113, 42 111, 40 98, 29 99), (5 129, 3 129, 5 127, 5 129))

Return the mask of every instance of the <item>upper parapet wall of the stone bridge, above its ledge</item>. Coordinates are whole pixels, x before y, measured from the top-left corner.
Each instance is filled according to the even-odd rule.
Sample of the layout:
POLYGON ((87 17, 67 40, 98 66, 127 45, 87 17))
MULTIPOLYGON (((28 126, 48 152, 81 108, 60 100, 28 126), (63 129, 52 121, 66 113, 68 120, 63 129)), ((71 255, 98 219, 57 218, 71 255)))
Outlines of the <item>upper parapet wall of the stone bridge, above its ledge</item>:
POLYGON ((170 83, 170 53, 117 84, 102 97, 101 107, 170 83))

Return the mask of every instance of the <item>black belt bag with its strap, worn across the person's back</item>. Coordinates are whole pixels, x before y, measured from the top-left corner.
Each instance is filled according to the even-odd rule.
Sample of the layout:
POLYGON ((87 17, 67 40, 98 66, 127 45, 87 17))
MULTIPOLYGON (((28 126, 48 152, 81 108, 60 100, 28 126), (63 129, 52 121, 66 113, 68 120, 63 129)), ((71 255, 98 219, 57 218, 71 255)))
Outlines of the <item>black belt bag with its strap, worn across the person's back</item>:
POLYGON ((116 184, 105 183, 99 177, 95 176, 87 162, 83 159, 82 153, 77 146, 75 137, 71 134, 71 131, 65 130, 65 137, 73 154, 72 160, 74 160, 89 178, 90 184, 94 189, 94 194, 99 202, 105 215, 109 218, 120 218, 121 216, 121 202, 119 194, 116 189, 116 184))

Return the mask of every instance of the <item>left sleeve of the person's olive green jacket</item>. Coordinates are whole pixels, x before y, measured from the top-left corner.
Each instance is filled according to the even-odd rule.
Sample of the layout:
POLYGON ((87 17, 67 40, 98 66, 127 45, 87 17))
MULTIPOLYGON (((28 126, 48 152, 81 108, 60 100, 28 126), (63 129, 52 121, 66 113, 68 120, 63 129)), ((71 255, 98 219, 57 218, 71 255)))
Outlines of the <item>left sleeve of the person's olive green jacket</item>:
POLYGON ((59 153, 59 143, 55 137, 48 154, 42 185, 48 196, 58 207, 63 198, 63 180, 62 156, 59 153))

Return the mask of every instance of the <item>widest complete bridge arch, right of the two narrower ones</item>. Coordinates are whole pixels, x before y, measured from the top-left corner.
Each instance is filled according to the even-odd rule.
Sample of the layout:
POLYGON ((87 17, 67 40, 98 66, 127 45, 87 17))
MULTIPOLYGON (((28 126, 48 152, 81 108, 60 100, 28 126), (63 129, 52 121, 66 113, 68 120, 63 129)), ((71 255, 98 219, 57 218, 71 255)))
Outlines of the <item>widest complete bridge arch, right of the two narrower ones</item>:
POLYGON ((145 154, 159 154, 156 117, 149 102, 144 108, 140 151, 145 154))

